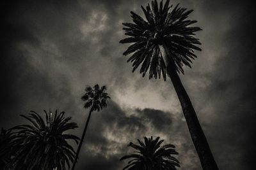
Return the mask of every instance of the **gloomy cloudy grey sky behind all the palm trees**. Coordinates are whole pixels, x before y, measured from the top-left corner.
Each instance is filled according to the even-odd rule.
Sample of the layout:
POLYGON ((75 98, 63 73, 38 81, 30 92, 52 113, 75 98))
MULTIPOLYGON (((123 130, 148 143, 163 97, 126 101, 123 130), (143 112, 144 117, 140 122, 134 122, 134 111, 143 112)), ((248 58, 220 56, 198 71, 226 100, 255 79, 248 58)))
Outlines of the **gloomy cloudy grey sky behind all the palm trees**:
MULTIPOLYGON (((77 169, 116 170, 127 162, 129 142, 160 136, 176 146, 180 170, 200 162, 170 80, 132 73, 122 22, 130 11, 142 15, 150 1, 23 1, 1 10, 1 115, 6 129, 25 124, 30 110, 65 111, 81 136, 88 110, 87 85, 107 85, 111 101, 93 112, 77 169)), ((189 19, 202 52, 182 83, 195 107, 220 169, 253 169, 255 162, 255 13, 249 1, 171 1, 193 9, 189 19)), ((74 144, 72 144, 74 145, 74 144)), ((75 146, 75 145, 74 145, 75 146)))

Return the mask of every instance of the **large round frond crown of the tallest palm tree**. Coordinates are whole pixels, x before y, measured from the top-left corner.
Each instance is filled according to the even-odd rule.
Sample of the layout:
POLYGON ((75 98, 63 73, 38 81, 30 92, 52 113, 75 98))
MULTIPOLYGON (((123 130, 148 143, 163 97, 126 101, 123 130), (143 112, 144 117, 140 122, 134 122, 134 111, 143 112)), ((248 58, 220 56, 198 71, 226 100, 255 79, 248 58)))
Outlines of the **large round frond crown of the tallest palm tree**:
MULTIPOLYGON (((132 72, 142 63, 140 73, 143 76, 149 69, 149 78, 161 77, 166 80, 166 60, 163 59, 159 45, 168 50, 168 59, 174 62, 174 69, 183 73, 183 64, 191 67, 191 59, 196 57, 194 50, 201 50, 199 39, 195 38, 200 27, 190 27, 196 20, 188 20, 188 15, 193 10, 169 6, 169 0, 163 4, 161 1, 152 1, 145 8, 141 6, 146 20, 131 11, 134 23, 123 23, 125 35, 129 38, 122 39, 120 43, 133 43, 124 52, 124 55, 133 53, 127 62, 133 62, 132 72), (189 63, 190 62, 190 63, 189 63)), ((167 73, 168 74, 168 73, 167 73)))

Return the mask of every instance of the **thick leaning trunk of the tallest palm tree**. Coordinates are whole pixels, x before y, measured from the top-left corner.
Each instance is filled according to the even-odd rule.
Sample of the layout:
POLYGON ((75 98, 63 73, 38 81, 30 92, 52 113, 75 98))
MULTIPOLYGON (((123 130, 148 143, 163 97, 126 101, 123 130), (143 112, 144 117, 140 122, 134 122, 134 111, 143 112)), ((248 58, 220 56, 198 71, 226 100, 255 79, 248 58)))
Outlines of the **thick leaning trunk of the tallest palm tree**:
MULTIPOLYGON (((165 48, 163 45, 159 46, 159 48, 164 60, 166 60, 168 58, 167 56, 170 55, 167 48, 165 48)), ((177 71, 175 70, 174 62, 173 60, 168 60, 168 62, 167 71, 170 75, 177 96, 179 97, 182 111, 186 119, 192 141, 195 145, 196 152, 198 153, 202 168, 204 170, 218 170, 218 166, 214 160, 214 157, 212 156, 207 139, 205 138, 204 131, 202 130, 198 118, 196 117, 193 105, 180 81, 177 71)))

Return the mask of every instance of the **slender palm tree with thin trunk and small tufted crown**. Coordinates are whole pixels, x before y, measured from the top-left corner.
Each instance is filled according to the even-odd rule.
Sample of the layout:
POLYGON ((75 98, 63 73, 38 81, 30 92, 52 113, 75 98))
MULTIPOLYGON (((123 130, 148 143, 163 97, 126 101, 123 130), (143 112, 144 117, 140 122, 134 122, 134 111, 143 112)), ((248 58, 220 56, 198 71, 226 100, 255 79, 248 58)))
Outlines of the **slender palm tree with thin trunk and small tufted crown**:
POLYGON ((75 169, 76 162, 77 162, 77 159, 78 159, 78 155, 79 155, 79 152, 81 150, 81 146, 82 146, 83 141, 84 141, 84 136, 86 134, 86 130, 87 130, 92 112, 102 110, 102 108, 107 106, 108 99, 110 99, 110 97, 108 96, 108 93, 106 93, 106 90, 107 90, 106 85, 104 85, 102 87, 99 87, 99 85, 97 84, 97 85, 94 85, 93 88, 88 86, 88 87, 85 88, 85 94, 81 97, 81 99, 83 101, 85 101, 84 108, 85 109, 90 108, 90 111, 89 111, 88 118, 86 120, 86 124, 84 126, 84 131, 83 131, 81 141, 80 141, 79 146, 77 148, 76 159, 73 163, 72 170, 75 169))

